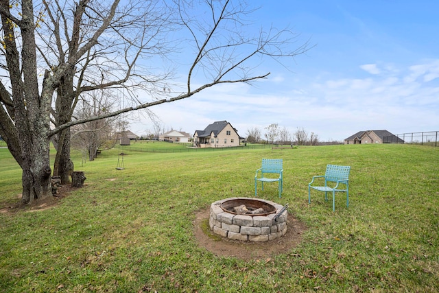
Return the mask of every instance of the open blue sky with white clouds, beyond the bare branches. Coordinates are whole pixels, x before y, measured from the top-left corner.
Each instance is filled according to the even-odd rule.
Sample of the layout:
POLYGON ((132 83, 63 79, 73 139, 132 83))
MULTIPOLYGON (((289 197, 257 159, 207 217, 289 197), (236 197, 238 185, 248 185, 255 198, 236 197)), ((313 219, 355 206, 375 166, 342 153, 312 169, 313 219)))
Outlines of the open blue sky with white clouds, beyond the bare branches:
MULTIPOLYGON (((261 7, 254 16, 262 25, 288 26, 315 47, 283 66, 265 60, 259 69, 271 75, 252 86, 224 84, 150 108, 166 130, 193 134, 227 120, 246 137, 276 123, 320 141, 439 130, 439 1, 249 2, 261 7)), ((142 135, 152 124, 130 129, 142 135)))

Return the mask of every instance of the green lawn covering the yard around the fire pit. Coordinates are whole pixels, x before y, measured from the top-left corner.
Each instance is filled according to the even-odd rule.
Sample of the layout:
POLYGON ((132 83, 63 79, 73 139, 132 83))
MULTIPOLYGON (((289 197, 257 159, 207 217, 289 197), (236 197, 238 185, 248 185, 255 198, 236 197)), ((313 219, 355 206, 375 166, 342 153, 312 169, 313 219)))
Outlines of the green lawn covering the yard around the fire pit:
MULTIPOLYGON (((439 148, 330 145, 294 150, 145 153, 124 148, 73 157, 86 186, 56 207, 0 213, 3 292, 438 292, 439 148), (281 199, 308 226, 303 242, 270 259, 217 257, 198 247, 195 212, 254 196, 262 158, 284 159, 281 199), (350 207, 335 213, 307 183, 328 163, 351 165, 350 207)), ((163 146, 165 148, 165 146, 163 146)), ((167 148, 167 146, 166 146, 167 148)), ((21 173, 0 149, 0 209, 17 201, 21 173)))

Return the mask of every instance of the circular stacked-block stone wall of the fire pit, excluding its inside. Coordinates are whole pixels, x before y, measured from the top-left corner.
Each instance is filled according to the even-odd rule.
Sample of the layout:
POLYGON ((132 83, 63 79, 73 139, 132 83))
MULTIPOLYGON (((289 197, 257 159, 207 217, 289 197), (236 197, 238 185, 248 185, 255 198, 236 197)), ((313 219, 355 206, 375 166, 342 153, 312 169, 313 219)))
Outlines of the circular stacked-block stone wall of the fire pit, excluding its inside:
POLYGON ((287 233, 287 210, 274 220, 276 214, 283 208, 281 204, 261 198, 252 198, 252 200, 266 202, 276 207, 275 213, 254 216, 228 213, 220 207, 226 200, 234 199, 241 198, 226 198, 211 204, 209 225, 213 233, 228 239, 252 242, 270 241, 287 233))

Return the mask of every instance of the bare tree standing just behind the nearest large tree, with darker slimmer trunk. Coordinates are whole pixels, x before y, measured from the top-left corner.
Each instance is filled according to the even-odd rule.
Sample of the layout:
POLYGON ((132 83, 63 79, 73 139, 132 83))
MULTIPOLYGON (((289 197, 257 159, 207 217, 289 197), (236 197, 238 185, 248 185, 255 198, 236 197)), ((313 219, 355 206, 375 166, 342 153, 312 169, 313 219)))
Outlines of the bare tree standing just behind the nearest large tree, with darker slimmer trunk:
MULTIPOLYGON (((52 109, 55 127, 71 121, 81 93, 114 86, 130 90, 134 85, 147 87, 150 93, 154 93, 156 87, 161 87, 165 74, 152 75, 145 69, 139 71, 134 65, 140 57, 145 60, 147 55, 160 56, 169 50, 161 35, 164 36, 172 27, 168 21, 171 14, 154 1, 133 0, 129 5, 117 6, 114 12, 108 7, 99 1, 82 0, 75 5, 69 1, 43 1, 42 10, 47 18, 46 21, 40 20, 40 29, 36 30, 42 40, 36 49, 49 68, 75 62, 75 56, 82 49, 81 43, 93 39, 95 27, 102 23, 106 13, 114 13, 108 26, 102 27, 104 34, 99 38, 99 43, 80 56, 75 69, 60 79, 60 86, 56 90, 58 98, 52 109), (66 8, 69 7, 73 14, 67 13, 70 10, 66 8), (115 34, 110 35, 110 32, 115 34), (144 78, 145 75, 148 78, 144 78)), ((62 183, 69 181, 67 174, 71 172, 69 140, 69 128, 52 137, 57 149, 54 175, 59 175, 62 183)))

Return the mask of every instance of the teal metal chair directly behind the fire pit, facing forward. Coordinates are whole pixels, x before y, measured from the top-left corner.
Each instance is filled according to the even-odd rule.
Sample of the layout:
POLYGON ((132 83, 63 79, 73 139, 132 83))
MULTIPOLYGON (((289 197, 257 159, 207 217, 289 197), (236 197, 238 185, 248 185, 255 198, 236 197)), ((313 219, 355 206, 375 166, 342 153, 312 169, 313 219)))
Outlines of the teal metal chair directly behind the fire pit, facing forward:
POLYGON ((279 198, 281 198, 283 188, 283 160, 282 159, 262 159, 262 166, 256 170, 254 175, 254 197, 257 197, 257 183, 278 182, 279 198), (271 174, 267 176, 267 174, 271 174), (278 175, 273 175, 278 174, 278 175))

